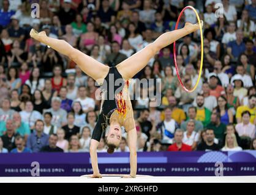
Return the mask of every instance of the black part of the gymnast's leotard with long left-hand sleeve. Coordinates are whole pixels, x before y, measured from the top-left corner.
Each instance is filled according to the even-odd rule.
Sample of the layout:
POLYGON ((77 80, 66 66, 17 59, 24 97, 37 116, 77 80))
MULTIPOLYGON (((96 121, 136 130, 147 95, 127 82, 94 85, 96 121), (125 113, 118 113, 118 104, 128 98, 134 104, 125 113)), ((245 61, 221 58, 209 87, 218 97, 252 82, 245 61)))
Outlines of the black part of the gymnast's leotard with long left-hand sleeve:
POLYGON ((122 79, 122 76, 118 72, 116 66, 111 66, 107 76, 105 77, 103 85, 101 85, 102 96, 104 96, 105 98, 104 100, 102 100, 104 101, 102 104, 102 110, 99 114, 97 124, 92 132, 92 139, 100 141, 100 138, 102 137, 102 132, 110 124, 109 119, 111 114, 116 109, 118 109, 118 103, 116 101, 115 94, 120 93, 120 91, 122 91, 122 88, 124 88, 124 85, 124 79, 122 79), (120 82, 115 83, 117 79, 120 79, 118 80, 120 82))

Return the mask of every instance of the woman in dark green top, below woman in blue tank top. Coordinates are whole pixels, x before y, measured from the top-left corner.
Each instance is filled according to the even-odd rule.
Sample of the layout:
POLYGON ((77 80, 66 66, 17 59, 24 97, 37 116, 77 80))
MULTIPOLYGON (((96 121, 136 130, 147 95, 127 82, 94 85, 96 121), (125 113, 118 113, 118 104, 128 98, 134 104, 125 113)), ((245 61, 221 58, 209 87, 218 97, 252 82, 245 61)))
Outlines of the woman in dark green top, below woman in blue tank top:
POLYGON ((214 130, 214 135, 219 140, 220 144, 224 141, 222 139, 224 137, 226 126, 220 121, 220 113, 215 110, 211 113, 211 122, 206 126, 206 128, 214 130))

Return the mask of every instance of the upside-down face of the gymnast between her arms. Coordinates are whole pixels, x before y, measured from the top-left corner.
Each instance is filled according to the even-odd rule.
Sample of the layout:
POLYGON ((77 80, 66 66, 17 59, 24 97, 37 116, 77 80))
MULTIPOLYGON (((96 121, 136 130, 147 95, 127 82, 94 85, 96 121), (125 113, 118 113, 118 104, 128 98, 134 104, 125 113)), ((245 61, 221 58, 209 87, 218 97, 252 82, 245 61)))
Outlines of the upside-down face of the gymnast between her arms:
POLYGON ((119 146, 122 138, 122 130, 119 124, 110 124, 110 129, 107 132, 107 143, 119 146))

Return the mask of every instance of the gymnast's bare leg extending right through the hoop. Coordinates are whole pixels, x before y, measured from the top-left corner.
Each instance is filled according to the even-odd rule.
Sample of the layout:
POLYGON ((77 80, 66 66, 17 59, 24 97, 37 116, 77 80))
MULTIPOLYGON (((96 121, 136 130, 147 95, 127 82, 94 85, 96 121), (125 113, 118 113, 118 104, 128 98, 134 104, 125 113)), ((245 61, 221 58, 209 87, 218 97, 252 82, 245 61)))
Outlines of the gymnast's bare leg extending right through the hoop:
MULTIPOLYGON (((201 21, 203 26, 203 21, 201 21)), ((141 49, 128 59, 119 63, 116 67, 119 73, 124 79, 130 79, 134 77, 141 69, 143 69, 149 62, 149 60, 156 55, 160 49, 165 48, 169 44, 175 42, 179 38, 184 37, 199 29, 199 24, 186 23, 183 29, 173 30, 171 32, 165 32, 160 35, 153 43, 148 44, 145 48, 141 49)))

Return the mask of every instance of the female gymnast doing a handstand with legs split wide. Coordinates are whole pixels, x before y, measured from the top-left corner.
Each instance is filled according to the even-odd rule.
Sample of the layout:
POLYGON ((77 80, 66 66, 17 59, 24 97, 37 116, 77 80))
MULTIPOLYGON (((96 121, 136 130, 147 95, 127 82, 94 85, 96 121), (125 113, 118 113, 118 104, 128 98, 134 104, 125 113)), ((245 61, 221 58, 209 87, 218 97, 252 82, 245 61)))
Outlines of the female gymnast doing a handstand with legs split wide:
MULTIPOLYGON (((203 21, 201 21, 203 25, 203 21)), ((186 23, 182 29, 173 30, 160 35, 153 43, 116 66, 109 67, 97 60, 92 59, 83 52, 73 48, 64 40, 47 37, 44 31, 36 32, 31 29, 32 38, 47 44, 61 54, 67 55, 75 62, 88 76, 92 77, 102 88, 102 104, 100 107, 99 119, 92 133, 90 146, 90 155, 93 174, 91 177, 100 178, 97 163, 97 146, 99 145, 102 132, 106 129, 105 138, 108 146, 108 153, 113 153, 115 147, 119 146, 122 132, 121 126, 124 126, 127 132, 127 143, 130 150, 130 174, 124 177, 136 177, 137 172, 137 131, 134 122, 134 113, 127 90, 129 79, 134 77, 143 69, 149 60, 169 44, 184 37, 187 34, 199 29, 199 24, 186 23), (118 86, 114 85, 116 80, 122 80, 118 86), (110 88, 114 88, 113 91, 110 88), (114 92, 115 91, 115 92, 114 92), (118 92, 119 91, 119 92, 118 92), (110 98, 113 96, 113 98, 110 98), (109 128, 107 128, 107 126, 109 128)))

